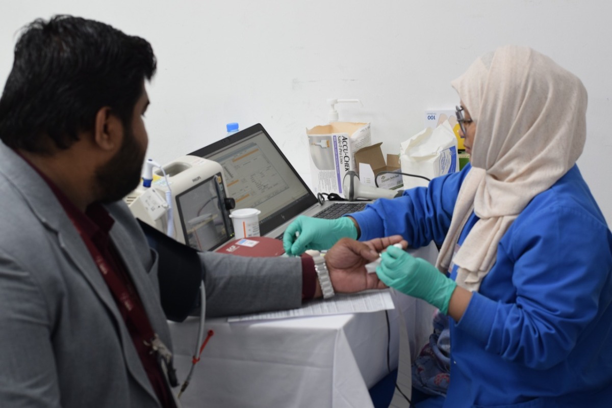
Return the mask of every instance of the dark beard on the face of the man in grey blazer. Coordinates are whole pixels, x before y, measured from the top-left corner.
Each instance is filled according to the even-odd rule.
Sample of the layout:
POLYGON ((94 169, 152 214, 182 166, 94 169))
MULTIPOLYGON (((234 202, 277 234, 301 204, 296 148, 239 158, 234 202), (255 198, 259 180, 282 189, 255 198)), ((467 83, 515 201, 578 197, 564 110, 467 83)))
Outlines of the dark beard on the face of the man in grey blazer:
POLYGON ((138 145, 130 126, 125 126, 125 129, 119 151, 106 164, 95 170, 99 191, 97 202, 121 200, 140 183, 146 149, 138 145))

